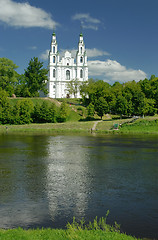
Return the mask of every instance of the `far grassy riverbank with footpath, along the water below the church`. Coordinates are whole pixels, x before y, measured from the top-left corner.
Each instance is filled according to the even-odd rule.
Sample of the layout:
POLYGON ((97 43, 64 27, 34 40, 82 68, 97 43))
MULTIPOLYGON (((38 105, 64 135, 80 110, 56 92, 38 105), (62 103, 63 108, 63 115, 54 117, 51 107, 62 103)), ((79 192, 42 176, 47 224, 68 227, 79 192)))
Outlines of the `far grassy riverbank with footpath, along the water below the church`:
POLYGON ((158 116, 145 118, 68 121, 26 125, 0 125, 0 134, 14 133, 98 133, 158 134, 158 116))

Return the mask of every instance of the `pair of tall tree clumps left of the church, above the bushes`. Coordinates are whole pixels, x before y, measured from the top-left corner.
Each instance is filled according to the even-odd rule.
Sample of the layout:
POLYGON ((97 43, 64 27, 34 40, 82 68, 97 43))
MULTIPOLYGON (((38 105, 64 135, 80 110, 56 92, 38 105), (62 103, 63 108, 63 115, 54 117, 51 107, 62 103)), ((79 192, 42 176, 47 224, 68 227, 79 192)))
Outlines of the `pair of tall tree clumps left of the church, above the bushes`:
POLYGON ((0 58, 0 88, 11 97, 38 97, 39 92, 47 94, 48 70, 37 57, 32 58, 24 74, 18 74, 18 66, 8 58, 0 58))

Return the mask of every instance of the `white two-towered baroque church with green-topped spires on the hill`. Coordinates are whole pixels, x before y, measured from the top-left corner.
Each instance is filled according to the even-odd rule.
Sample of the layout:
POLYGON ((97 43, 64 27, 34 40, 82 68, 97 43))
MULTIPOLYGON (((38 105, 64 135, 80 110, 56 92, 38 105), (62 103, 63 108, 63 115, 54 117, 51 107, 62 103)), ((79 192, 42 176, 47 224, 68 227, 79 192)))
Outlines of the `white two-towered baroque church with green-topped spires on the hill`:
MULTIPOLYGON (((66 51, 60 59, 56 34, 52 34, 48 69, 48 97, 73 98, 74 95, 69 95, 67 83, 72 80, 77 80, 78 83, 88 80, 87 54, 82 33, 79 36, 76 59, 71 56, 69 51, 66 51)), ((75 97, 81 97, 79 91, 75 97)))

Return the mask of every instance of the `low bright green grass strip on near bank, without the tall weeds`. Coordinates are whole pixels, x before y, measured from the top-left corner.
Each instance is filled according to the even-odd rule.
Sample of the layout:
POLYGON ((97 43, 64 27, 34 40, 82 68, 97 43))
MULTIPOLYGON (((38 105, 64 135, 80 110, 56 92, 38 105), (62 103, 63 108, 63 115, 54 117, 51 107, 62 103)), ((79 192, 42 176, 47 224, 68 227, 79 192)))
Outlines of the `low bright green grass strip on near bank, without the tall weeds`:
POLYGON ((82 229, 37 229, 23 230, 21 228, 13 230, 0 230, 1 240, 136 240, 118 232, 104 232, 102 230, 82 230, 82 229))

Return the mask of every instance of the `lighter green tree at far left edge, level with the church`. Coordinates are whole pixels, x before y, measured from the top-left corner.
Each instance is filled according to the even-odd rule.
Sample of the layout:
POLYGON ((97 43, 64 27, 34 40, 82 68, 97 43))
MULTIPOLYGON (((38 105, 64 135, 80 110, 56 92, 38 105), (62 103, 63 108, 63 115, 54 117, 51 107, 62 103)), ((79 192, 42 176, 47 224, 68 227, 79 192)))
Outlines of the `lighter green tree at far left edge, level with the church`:
POLYGON ((0 58, 0 87, 11 96, 19 74, 15 71, 18 66, 8 58, 0 58))

